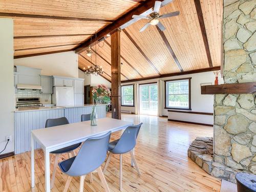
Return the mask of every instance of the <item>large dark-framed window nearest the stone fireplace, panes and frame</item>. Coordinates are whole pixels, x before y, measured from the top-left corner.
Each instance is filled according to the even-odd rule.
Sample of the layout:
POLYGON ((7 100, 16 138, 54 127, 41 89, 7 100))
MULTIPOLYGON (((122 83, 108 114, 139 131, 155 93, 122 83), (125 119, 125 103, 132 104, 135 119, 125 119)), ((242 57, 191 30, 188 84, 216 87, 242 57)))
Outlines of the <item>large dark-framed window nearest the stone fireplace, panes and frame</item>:
POLYGON ((191 110, 190 79, 165 81, 165 108, 191 110))

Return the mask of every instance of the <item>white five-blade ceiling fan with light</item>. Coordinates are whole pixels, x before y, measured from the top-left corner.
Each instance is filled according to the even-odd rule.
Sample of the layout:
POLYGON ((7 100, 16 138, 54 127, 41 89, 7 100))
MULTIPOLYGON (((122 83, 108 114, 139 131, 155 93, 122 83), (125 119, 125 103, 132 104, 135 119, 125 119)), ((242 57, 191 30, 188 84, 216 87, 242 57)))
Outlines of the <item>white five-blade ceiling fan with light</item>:
POLYGON ((144 15, 133 15, 132 17, 133 18, 139 18, 139 19, 150 19, 150 21, 140 29, 140 32, 144 31, 148 26, 150 25, 157 25, 158 28, 163 31, 165 30, 165 27, 163 26, 163 24, 160 22, 160 18, 166 18, 166 17, 173 17, 173 16, 177 16, 180 14, 179 11, 175 11, 175 12, 172 12, 172 13, 167 13, 167 14, 163 14, 163 15, 160 15, 159 14, 159 10, 160 10, 160 7, 161 7, 161 3, 160 1, 156 1, 155 2, 155 6, 154 6, 154 10, 151 14, 149 14, 148 16, 144 16, 144 15))

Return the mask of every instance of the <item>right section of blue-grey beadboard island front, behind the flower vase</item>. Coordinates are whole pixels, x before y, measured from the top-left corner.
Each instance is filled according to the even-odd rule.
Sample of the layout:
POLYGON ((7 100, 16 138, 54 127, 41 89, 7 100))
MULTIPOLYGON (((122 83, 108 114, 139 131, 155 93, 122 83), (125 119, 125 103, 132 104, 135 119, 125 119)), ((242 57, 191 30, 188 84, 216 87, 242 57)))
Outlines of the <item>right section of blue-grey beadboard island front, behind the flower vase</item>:
MULTIPOLYGON (((92 106, 81 106, 78 108, 66 108, 65 109, 65 117, 69 120, 70 123, 76 123, 81 121, 82 114, 91 114, 92 106)), ((105 105, 97 105, 96 113, 98 118, 106 117, 106 106, 105 105)))

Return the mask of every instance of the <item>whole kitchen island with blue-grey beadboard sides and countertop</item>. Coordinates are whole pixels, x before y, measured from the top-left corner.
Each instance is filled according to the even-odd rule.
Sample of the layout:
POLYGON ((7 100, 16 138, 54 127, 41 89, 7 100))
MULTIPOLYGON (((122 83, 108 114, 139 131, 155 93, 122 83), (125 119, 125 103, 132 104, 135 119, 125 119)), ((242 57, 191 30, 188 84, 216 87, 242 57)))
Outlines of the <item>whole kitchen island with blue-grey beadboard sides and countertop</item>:
MULTIPOLYGON (((39 108, 19 108, 14 111, 14 137, 15 154, 28 152, 31 149, 31 131, 44 129, 47 119, 66 117, 70 123, 81 121, 82 114, 90 114, 93 105, 79 106, 49 106, 39 108)), ((98 118, 106 117, 106 105, 96 106, 98 118)), ((35 148, 40 148, 38 143, 34 143, 35 148)))

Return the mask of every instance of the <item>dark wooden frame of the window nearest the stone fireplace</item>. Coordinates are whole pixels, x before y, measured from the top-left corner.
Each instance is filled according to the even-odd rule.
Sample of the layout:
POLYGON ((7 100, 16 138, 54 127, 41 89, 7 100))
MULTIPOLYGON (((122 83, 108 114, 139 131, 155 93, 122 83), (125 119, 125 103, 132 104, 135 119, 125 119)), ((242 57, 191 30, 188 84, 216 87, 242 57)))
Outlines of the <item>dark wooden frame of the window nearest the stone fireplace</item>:
POLYGON ((180 78, 180 79, 169 79, 164 81, 164 109, 172 109, 172 110, 186 110, 186 111, 191 111, 191 77, 187 78, 180 78), (167 99, 167 90, 166 90, 166 84, 167 82, 170 81, 178 81, 178 80, 188 80, 188 108, 172 108, 168 107, 166 103, 167 99))

